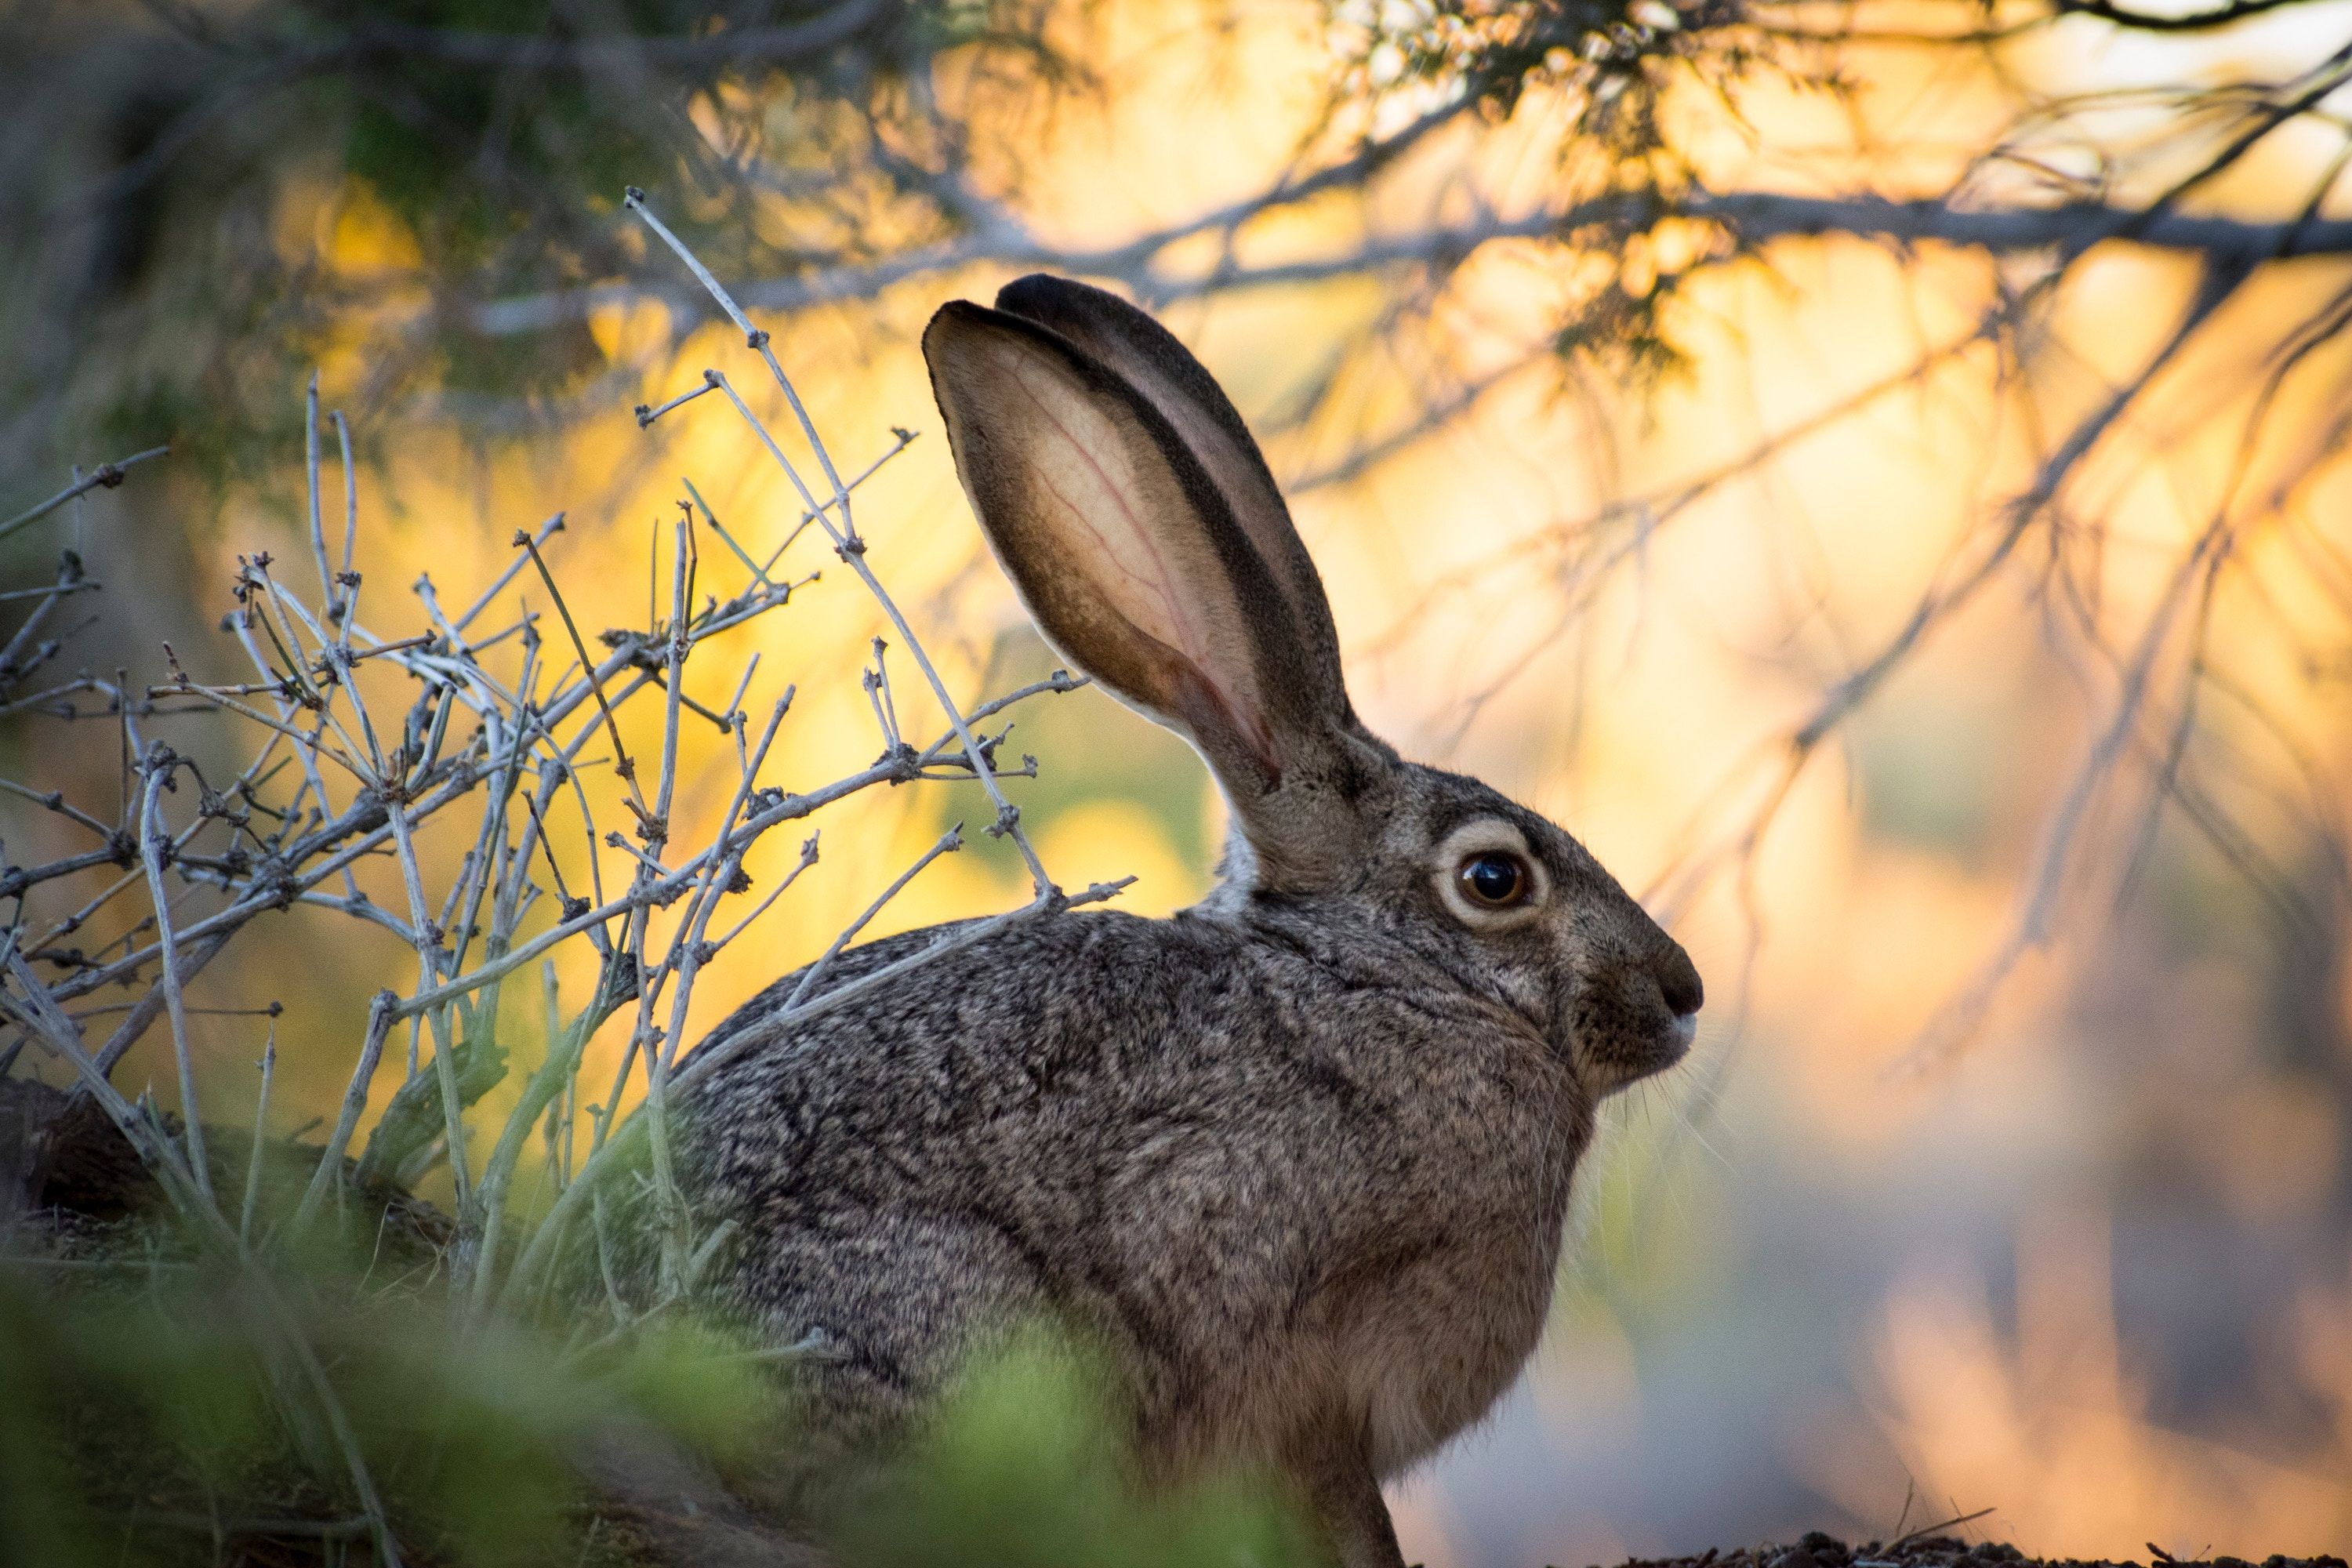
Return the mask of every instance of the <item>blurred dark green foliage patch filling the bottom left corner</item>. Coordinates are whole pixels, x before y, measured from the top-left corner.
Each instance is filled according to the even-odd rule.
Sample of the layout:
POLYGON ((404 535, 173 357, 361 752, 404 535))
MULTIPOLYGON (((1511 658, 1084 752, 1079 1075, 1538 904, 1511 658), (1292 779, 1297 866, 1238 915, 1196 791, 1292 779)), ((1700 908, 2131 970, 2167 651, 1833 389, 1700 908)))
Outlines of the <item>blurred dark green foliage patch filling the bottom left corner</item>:
MULTIPOLYGON (((452 1328, 430 1286, 270 1281, 296 1302, 358 1450, 412 1554, 579 1563, 595 1514, 574 1469, 607 1429, 741 1460, 774 1401, 743 1345, 644 1324, 588 1349, 513 1324, 452 1328)), ((183 1258, 94 1255, 0 1272, 0 1561, 214 1561, 191 1521, 353 1521, 336 1434, 280 1396, 263 1286, 183 1258)), ((242 1528, 242 1526, 240 1526, 242 1528)), ((315 1537, 313 1537, 315 1540, 315 1537)))

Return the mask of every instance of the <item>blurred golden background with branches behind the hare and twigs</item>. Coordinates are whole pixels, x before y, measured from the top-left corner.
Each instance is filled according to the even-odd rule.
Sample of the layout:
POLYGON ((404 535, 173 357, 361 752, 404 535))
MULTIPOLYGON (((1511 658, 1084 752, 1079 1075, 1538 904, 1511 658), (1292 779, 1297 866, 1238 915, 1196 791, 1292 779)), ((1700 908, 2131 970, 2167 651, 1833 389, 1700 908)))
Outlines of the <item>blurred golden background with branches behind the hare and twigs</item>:
MULTIPOLYGON (((682 480, 746 541, 800 508, 717 400, 630 414, 741 355, 640 186, 844 465, 915 433, 870 559, 1000 689, 1054 656, 915 334, 1033 268, 1122 287, 1263 433, 1374 729, 1562 820, 1708 978, 1693 1060, 1585 1166, 1536 1363, 1395 1490, 1406 1554, 1978 1509, 2051 1556, 2343 1552, 2347 82, 2345 0, 14 0, 0 510, 172 456, 0 567, 82 555, 103 592, 45 635, 85 663, 235 677, 212 628, 240 552, 299 555, 315 371, 379 618, 567 510, 583 628, 642 625, 682 480)), ((828 571, 739 635, 797 684, 779 783, 873 759, 875 630, 828 571)), ((0 773, 111 802, 113 729, 7 696, 0 773)), ((1202 893, 1178 743, 1080 691, 1009 750, 1061 884, 1202 893)), ((964 785, 818 818, 699 1027, 957 818, 964 785)), ((19 863, 71 837, 0 827, 19 863)), ((1025 886, 976 839, 877 931, 1025 886)), ((287 1004, 273 1126, 400 985, 353 926, 280 917, 202 978, 287 1004)), ((261 1020, 195 1027, 245 1103, 261 1020)), ((118 1081, 169 1103, 155 1051, 118 1081)))

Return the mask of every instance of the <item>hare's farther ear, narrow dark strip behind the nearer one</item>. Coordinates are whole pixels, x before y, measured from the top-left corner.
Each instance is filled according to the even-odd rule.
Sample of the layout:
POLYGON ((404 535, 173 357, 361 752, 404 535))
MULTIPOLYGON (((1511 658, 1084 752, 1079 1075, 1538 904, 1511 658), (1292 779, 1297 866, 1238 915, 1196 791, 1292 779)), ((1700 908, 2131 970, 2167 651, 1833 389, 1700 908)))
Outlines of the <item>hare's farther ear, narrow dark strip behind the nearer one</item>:
POLYGON ((1348 705, 1348 684, 1341 677, 1338 630, 1331 625, 1331 604, 1324 597, 1322 574, 1315 557, 1291 527, 1291 508, 1282 501, 1275 473, 1265 465, 1265 454, 1242 423, 1242 414, 1225 397, 1216 376, 1176 341, 1167 327, 1143 310, 1136 310, 1117 294, 1030 273, 997 292, 997 310, 1025 315, 1051 327, 1061 336, 1117 371, 1129 386, 1143 393, 1160 416, 1176 428, 1183 444, 1200 458, 1209 482, 1232 520, 1242 524, 1249 543, 1275 576, 1275 588, 1291 611, 1291 630, 1298 651, 1317 675, 1317 689, 1329 703, 1331 719, 1355 729, 1355 710, 1348 705))

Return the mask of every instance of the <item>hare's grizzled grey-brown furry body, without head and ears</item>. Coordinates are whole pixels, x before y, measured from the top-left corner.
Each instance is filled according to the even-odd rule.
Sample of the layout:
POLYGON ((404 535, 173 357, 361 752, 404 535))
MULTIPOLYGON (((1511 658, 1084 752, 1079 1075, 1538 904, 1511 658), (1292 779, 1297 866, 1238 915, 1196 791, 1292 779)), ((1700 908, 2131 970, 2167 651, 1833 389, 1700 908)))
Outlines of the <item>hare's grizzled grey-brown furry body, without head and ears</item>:
POLYGON ((701 1100, 696 1180, 755 1194, 741 1295, 837 1347, 842 1418, 1047 1314, 1110 1352, 1162 1467, 1287 1462, 1336 1425, 1392 1474, 1484 1413, 1543 1326, 1590 1133, 1508 1006, 1279 912, 1014 926, 701 1100))

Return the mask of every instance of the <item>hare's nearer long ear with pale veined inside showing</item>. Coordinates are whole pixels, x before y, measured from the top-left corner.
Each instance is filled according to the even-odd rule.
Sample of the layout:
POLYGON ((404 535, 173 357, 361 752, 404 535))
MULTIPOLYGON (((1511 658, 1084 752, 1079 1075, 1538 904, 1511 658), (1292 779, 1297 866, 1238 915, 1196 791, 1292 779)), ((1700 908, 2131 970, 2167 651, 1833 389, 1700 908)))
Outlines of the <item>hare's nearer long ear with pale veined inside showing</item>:
POLYGON ((1258 886, 1348 875, 1378 764, 1334 712, 1272 571, 1124 376, 1033 320, 950 303, 922 334, 955 470, 1037 628, 1209 759, 1258 886))

